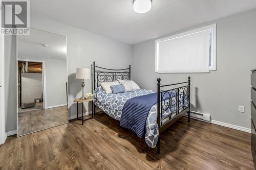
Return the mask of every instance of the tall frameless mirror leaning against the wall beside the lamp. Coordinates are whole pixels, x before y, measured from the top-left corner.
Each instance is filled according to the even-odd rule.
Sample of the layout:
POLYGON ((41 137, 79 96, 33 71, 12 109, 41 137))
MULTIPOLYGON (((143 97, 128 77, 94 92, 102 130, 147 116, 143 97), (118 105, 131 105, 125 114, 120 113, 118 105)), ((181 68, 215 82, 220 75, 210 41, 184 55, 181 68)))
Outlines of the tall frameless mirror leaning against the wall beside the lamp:
POLYGON ((66 36, 17 36, 17 136, 68 123, 66 36))

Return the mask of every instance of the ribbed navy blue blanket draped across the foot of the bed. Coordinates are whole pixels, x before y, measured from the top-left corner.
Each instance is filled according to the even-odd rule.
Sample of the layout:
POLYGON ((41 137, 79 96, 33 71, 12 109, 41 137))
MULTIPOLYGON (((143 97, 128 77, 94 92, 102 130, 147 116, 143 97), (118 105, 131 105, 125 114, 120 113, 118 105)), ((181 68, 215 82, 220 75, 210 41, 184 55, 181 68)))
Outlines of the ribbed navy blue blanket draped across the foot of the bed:
POLYGON ((120 126, 130 129, 142 138, 145 123, 151 107, 157 103, 157 93, 137 96, 125 102, 120 119, 120 126))

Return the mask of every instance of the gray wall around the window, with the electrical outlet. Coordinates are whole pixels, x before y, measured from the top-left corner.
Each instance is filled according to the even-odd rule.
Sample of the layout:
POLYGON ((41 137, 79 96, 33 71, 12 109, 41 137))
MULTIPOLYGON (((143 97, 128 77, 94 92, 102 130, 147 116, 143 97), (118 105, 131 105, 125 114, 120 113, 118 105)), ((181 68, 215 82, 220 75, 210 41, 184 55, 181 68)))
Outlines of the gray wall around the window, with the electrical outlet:
POLYGON ((209 74, 157 74, 155 39, 134 45, 133 80, 142 88, 156 89, 158 77, 167 84, 191 76, 191 110, 250 128, 250 70, 256 68, 255 18, 253 10, 205 24, 217 23, 217 71, 209 74), (239 105, 245 106, 245 113, 238 112, 239 105))

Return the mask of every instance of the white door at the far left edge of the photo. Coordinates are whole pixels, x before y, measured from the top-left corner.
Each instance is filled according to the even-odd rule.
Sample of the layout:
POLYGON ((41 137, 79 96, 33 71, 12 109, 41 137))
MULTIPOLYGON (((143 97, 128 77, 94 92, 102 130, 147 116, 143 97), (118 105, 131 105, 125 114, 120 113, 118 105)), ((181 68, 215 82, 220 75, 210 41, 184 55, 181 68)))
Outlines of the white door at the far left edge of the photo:
POLYGON ((5 59, 4 36, 0 35, 0 144, 6 139, 5 132, 5 59))

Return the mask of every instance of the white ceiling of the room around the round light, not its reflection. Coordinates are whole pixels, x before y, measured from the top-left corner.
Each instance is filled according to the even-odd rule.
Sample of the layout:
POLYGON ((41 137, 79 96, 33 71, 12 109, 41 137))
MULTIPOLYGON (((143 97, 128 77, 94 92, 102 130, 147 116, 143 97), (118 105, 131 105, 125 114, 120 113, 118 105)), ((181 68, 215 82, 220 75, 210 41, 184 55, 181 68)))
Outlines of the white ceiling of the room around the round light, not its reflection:
POLYGON ((152 10, 133 11, 133 0, 30 1, 31 14, 136 44, 256 8, 255 0, 152 0, 152 10))

